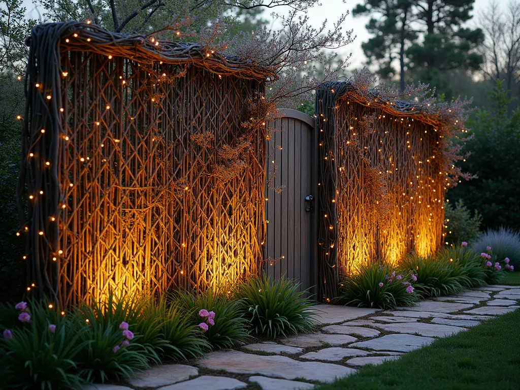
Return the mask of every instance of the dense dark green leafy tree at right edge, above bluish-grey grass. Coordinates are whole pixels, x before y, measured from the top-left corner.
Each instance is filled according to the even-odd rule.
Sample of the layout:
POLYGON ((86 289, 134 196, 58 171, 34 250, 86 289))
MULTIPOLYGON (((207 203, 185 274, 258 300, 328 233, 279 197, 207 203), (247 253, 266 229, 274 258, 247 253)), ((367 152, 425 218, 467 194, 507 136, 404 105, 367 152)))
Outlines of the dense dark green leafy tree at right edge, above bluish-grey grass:
POLYGON ((503 225, 519 229, 520 110, 508 114, 511 98, 503 84, 497 81, 489 93, 492 107, 477 110, 468 122, 474 138, 466 142, 471 155, 461 167, 478 178, 450 189, 447 198, 450 203, 462 199, 470 210, 477 210, 485 228, 497 229, 503 225))

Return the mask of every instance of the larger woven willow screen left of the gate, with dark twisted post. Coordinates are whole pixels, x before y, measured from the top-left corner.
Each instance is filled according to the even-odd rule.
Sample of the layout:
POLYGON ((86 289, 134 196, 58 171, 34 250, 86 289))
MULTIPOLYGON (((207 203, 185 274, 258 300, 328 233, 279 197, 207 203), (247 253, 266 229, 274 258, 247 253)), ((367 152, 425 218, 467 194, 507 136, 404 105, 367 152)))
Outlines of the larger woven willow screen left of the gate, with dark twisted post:
POLYGON ((77 22, 37 26, 30 46, 20 187, 36 294, 69 306, 257 271, 264 126, 223 150, 245 145, 265 70, 77 22))

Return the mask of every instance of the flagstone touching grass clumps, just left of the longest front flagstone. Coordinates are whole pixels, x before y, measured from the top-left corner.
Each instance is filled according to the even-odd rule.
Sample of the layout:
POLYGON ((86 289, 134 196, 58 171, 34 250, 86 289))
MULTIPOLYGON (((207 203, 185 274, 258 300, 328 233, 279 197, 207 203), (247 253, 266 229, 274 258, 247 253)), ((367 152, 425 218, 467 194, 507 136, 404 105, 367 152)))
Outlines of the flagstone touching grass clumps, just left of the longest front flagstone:
POLYGON ((158 387, 186 381, 192 375, 198 375, 199 369, 187 365, 163 365, 138 372, 138 378, 126 382, 135 387, 158 387))

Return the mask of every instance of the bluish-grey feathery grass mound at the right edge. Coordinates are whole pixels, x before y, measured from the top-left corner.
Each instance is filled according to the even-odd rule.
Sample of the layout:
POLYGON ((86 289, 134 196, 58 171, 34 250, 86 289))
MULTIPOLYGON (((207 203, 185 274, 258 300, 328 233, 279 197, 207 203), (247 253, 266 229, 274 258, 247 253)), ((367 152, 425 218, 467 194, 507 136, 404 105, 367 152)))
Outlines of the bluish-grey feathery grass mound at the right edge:
POLYGON ((520 269, 520 234, 517 231, 504 227, 499 230, 487 230, 475 240, 471 248, 480 254, 487 253, 488 246, 493 248, 493 256, 498 261, 507 257, 513 269, 520 269))

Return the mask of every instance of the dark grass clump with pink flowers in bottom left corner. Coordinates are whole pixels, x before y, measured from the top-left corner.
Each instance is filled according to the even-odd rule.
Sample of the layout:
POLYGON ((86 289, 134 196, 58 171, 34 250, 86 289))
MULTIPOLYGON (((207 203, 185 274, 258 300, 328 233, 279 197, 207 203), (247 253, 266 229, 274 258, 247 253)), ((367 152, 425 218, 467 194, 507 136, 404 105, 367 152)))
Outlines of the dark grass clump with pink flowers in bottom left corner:
MULTIPOLYGON (((76 359, 88 343, 83 341, 86 328, 76 328, 47 301, 11 306, 16 307, 11 313, 18 323, 4 329, 0 339, 0 387, 83 389, 76 359)), ((2 313, 8 311, 4 306, 2 313)), ((2 320, 5 324, 6 318, 2 320)))

